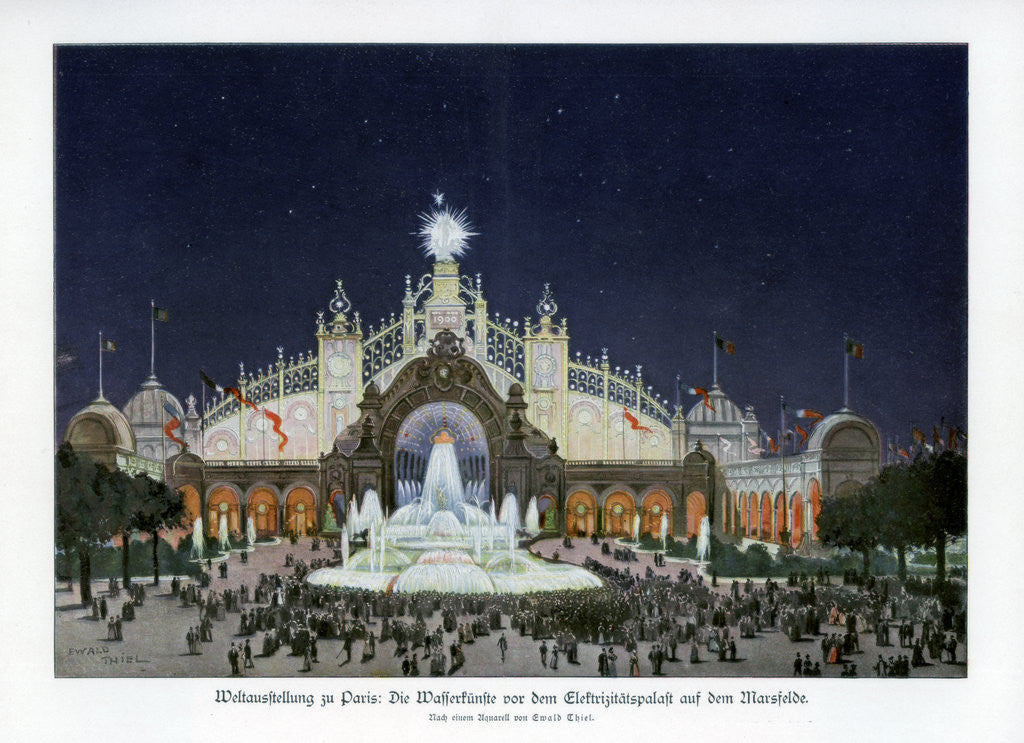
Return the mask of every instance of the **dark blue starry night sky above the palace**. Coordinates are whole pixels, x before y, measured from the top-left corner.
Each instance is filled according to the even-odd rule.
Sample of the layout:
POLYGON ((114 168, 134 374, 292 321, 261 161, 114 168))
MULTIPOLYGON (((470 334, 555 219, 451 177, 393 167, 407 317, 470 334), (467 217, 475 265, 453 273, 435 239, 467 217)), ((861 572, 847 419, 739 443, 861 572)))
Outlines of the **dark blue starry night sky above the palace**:
MULTIPOLYGON (((550 281, 570 348, 777 427, 851 407, 909 440, 967 407, 967 47, 57 47, 57 435, 148 374, 175 394, 314 347, 429 269, 439 189, 492 312, 550 281)), ((688 407, 694 398, 684 395, 688 407)))

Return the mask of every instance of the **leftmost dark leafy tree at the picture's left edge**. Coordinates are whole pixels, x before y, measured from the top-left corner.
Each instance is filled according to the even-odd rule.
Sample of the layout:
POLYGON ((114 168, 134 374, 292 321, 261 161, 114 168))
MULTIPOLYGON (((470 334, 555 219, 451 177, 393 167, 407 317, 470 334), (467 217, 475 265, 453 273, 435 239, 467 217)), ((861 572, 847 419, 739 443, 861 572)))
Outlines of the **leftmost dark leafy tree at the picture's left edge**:
POLYGON ((97 487, 106 468, 96 465, 65 442, 56 454, 55 542, 66 555, 78 553, 82 603, 92 601, 89 550, 113 535, 109 504, 97 487))

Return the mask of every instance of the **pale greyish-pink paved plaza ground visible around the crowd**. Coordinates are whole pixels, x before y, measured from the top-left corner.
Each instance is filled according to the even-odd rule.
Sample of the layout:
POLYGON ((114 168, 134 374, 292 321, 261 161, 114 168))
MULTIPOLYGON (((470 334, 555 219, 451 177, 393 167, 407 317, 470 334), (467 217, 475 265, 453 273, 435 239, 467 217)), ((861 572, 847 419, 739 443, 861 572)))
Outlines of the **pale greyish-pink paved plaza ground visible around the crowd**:
MULTIPOLYGON (((307 563, 314 558, 325 558, 330 551, 312 552, 311 540, 302 539, 298 544, 258 544, 249 554, 247 565, 242 564, 238 554, 231 554, 227 559, 227 578, 219 577, 217 566, 211 571, 210 589, 222 592, 225 588, 238 588, 246 584, 250 589, 256 584, 260 573, 280 573, 291 575, 292 569, 285 567, 286 555, 292 553, 296 560, 307 563)), ((583 564, 587 557, 602 560, 609 565, 621 567, 608 556, 600 555, 600 548, 589 541, 580 539, 571 550, 561 545, 560 540, 551 539, 537 542, 532 552, 544 557, 551 557, 557 550, 560 559, 577 564, 583 564)), ((681 563, 668 563, 665 567, 654 567, 651 555, 641 554, 639 563, 630 563, 631 568, 641 573, 650 566, 655 572, 676 576, 680 569, 693 570, 692 566, 681 563)), ((135 582, 145 584, 146 599, 143 606, 136 609, 135 619, 124 622, 124 640, 109 641, 106 639, 106 623, 94 621, 91 609, 78 605, 79 592, 76 583, 74 593, 69 593, 67 584, 61 584, 55 592, 55 672, 58 676, 228 676, 230 666, 227 660, 230 644, 244 643, 247 637, 239 636, 239 614, 228 612, 223 621, 214 621, 213 642, 202 644, 202 655, 189 655, 185 643, 185 635, 189 627, 199 623, 199 610, 196 607, 183 608, 180 601, 171 594, 171 580, 161 579, 159 586, 152 585, 152 576, 136 578, 135 582)), ((783 581, 784 583, 784 581, 783 581)), ((727 592, 729 581, 723 580, 717 588, 727 592)), ((103 595, 106 588, 105 580, 93 583, 95 596, 103 595)), ((204 592, 204 595, 207 592, 204 592)), ((127 595, 122 592, 120 598, 108 599, 111 613, 120 613, 120 607, 127 595)), ((252 607, 253 605, 246 605, 252 607)), ((427 620, 428 629, 433 629, 439 623, 439 615, 427 620)), ((503 630, 493 631, 489 636, 477 637, 472 644, 463 646, 466 656, 465 665, 456 671, 455 676, 597 676, 598 655, 600 648, 581 643, 579 646, 579 665, 565 662, 560 658, 557 669, 545 667, 540 660, 540 641, 530 637, 520 637, 518 631, 510 628, 509 617, 502 617, 503 630), (501 662, 498 649, 498 639, 504 631, 509 644, 506 662, 501 662)), ((370 628, 379 635, 380 620, 370 624, 370 628)), ((730 630, 734 629, 730 627, 730 630)), ((838 631, 839 627, 822 625, 824 632, 838 631)), ((701 648, 700 660, 689 662, 689 646, 680 645, 677 657, 680 660, 668 662, 663 670, 667 676, 788 676, 793 670, 793 659, 797 652, 809 654, 812 661, 821 661, 819 647, 820 636, 804 638, 792 642, 782 632, 772 629, 758 632, 753 639, 738 637, 738 631, 731 631, 737 646, 736 660, 720 662, 701 648)), ((339 639, 324 638, 318 645, 318 663, 314 663, 311 671, 303 671, 303 659, 289 654, 289 648, 283 646, 270 657, 259 655, 262 648, 263 632, 248 636, 253 648, 255 668, 245 670, 246 675, 253 676, 394 676, 401 675, 401 658, 394 655, 394 642, 378 643, 376 657, 360 662, 362 642, 355 641, 352 645, 352 660, 345 661, 343 643, 339 639), (340 656, 340 657, 339 657, 340 656)), ((914 628, 914 636, 921 636, 921 626, 914 628)), ((895 629, 892 632, 895 642, 895 629)), ((444 635, 444 647, 454 642, 455 633, 444 635)), ((858 675, 873 678, 871 666, 881 652, 889 658, 897 654, 909 655, 909 649, 899 648, 898 644, 878 648, 873 632, 863 632, 859 636, 861 652, 845 658, 856 663, 858 675)), ((549 641, 550 645, 550 641, 549 641)), ((647 653, 651 643, 640 642, 638 656, 640 658, 640 674, 648 676, 651 664, 647 653)), ((429 678, 429 660, 422 660, 423 649, 418 649, 420 672, 429 678)), ((629 671, 629 654, 622 646, 615 647, 618 657, 616 663, 617 675, 625 676, 629 671)), ((911 678, 933 676, 965 676, 967 664, 967 646, 957 650, 956 664, 932 661, 930 665, 911 668, 911 678)), ((927 657, 927 655, 926 655, 927 657)), ((822 664, 822 675, 839 676, 842 665, 822 664)), ((894 680, 895 683, 896 680, 894 680)))

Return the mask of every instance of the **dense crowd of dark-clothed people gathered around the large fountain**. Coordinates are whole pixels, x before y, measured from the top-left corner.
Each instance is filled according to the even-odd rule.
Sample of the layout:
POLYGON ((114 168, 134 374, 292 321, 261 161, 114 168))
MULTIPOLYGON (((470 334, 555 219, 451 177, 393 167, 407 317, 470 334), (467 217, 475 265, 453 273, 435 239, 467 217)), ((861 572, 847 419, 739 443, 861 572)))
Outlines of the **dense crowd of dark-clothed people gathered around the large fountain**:
MULTIPOLYGON (((570 541, 561 545, 571 549, 570 541)), ((283 571, 260 573, 250 578, 252 585, 244 580, 227 584, 226 568, 218 568, 222 577, 216 585, 209 569, 195 579, 175 577, 176 605, 198 612, 185 633, 187 655, 203 654, 203 645, 213 642, 215 624, 229 621, 237 626, 228 653, 232 674, 282 647, 309 671, 319 662, 317 641, 327 639, 340 641, 342 666, 353 662, 353 654, 360 663, 374 661, 380 650, 393 658, 395 674, 450 675, 466 666, 466 646, 481 639, 495 648, 495 662, 504 663, 509 637, 515 636, 536 644, 542 670, 580 666, 581 647, 591 646, 598 650, 597 664, 584 672, 665 675, 672 663, 735 662, 737 641, 781 632, 794 643, 813 638, 820 651, 812 658, 801 647, 794 675, 818 676, 828 667, 841 667, 843 676, 857 675, 852 659, 868 636, 877 648, 891 647, 895 639, 907 651, 888 660, 880 654, 876 674, 905 676, 929 662, 957 662, 966 627, 964 617, 937 597, 907 592, 891 580, 861 580, 850 572, 842 584, 833 584, 822 571, 791 574, 784 585, 736 579, 717 588, 686 568, 675 576, 649 566, 641 571, 638 554, 610 540, 600 550, 600 557, 609 560, 583 561, 604 580, 604 587, 596 589, 465 596, 311 585, 305 581, 308 573, 338 558, 337 545, 327 540, 327 547, 335 550, 334 561, 315 557, 307 562, 288 553, 283 571)), ((145 601, 141 583, 134 583, 121 614, 109 616, 109 600, 121 591, 116 583, 91 606, 92 618, 109 619, 110 640, 123 637, 123 622, 145 601)))

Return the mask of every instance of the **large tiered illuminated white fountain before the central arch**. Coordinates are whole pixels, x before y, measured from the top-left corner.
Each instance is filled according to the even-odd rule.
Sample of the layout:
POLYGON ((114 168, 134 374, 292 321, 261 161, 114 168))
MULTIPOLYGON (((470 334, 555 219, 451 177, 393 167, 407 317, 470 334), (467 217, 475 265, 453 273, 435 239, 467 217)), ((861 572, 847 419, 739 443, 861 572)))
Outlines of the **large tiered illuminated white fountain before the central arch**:
MULTIPOLYGON (((547 563, 520 550, 522 524, 515 493, 505 493, 496 516, 494 502, 480 499, 486 494, 484 482, 463 481, 452 432, 441 428, 430 442, 422 482, 396 483, 398 501, 406 499, 406 505, 385 518, 376 491, 364 494, 360 508, 353 500, 345 535, 351 538, 367 530, 367 549, 350 557, 343 549, 343 564, 314 570, 307 578, 310 583, 457 594, 526 594, 602 584, 583 568, 547 563)), ((536 521, 536 502, 532 509, 535 515, 527 513, 527 521, 536 521)))

